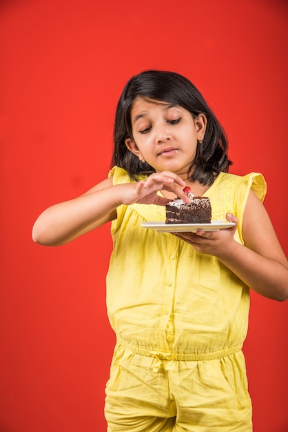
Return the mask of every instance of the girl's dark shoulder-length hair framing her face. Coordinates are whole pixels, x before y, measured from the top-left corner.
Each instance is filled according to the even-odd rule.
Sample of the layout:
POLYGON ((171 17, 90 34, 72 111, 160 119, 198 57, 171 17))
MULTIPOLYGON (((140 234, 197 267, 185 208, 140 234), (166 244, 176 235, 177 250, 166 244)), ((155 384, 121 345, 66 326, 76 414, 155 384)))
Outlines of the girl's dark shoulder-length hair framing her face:
POLYGON ((155 172, 147 162, 139 161, 125 145, 125 139, 133 138, 130 114, 137 96, 181 106, 194 119, 200 112, 207 117, 205 137, 202 144, 197 143, 196 156, 189 168, 190 181, 198 180, 201 184, 211 185, 220 171, 228 172, 232 161, 227 156, 225 130, 189 79, 163 70, 145 70, 125 85, 116 108, 112 165, 124 168, 135 180, 139 175, 155 172))

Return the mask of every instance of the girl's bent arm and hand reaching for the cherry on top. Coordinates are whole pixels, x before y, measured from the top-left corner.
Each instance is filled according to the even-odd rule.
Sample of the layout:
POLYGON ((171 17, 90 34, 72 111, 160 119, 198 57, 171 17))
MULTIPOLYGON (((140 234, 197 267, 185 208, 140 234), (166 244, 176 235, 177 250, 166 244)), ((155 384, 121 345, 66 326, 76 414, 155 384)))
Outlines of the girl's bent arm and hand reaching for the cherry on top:
POLYGON ((158 190, 169 190, 187 200, 184 185, 180 177, 169 172, 154 173, 146 181, 117 185, 110 177, 80 197, 44 210, 34 223, 32 239, 45 246, 60 246, 116 219, 116 208, 121 204, 165 205, 169 199, 157 195, 158 190))

